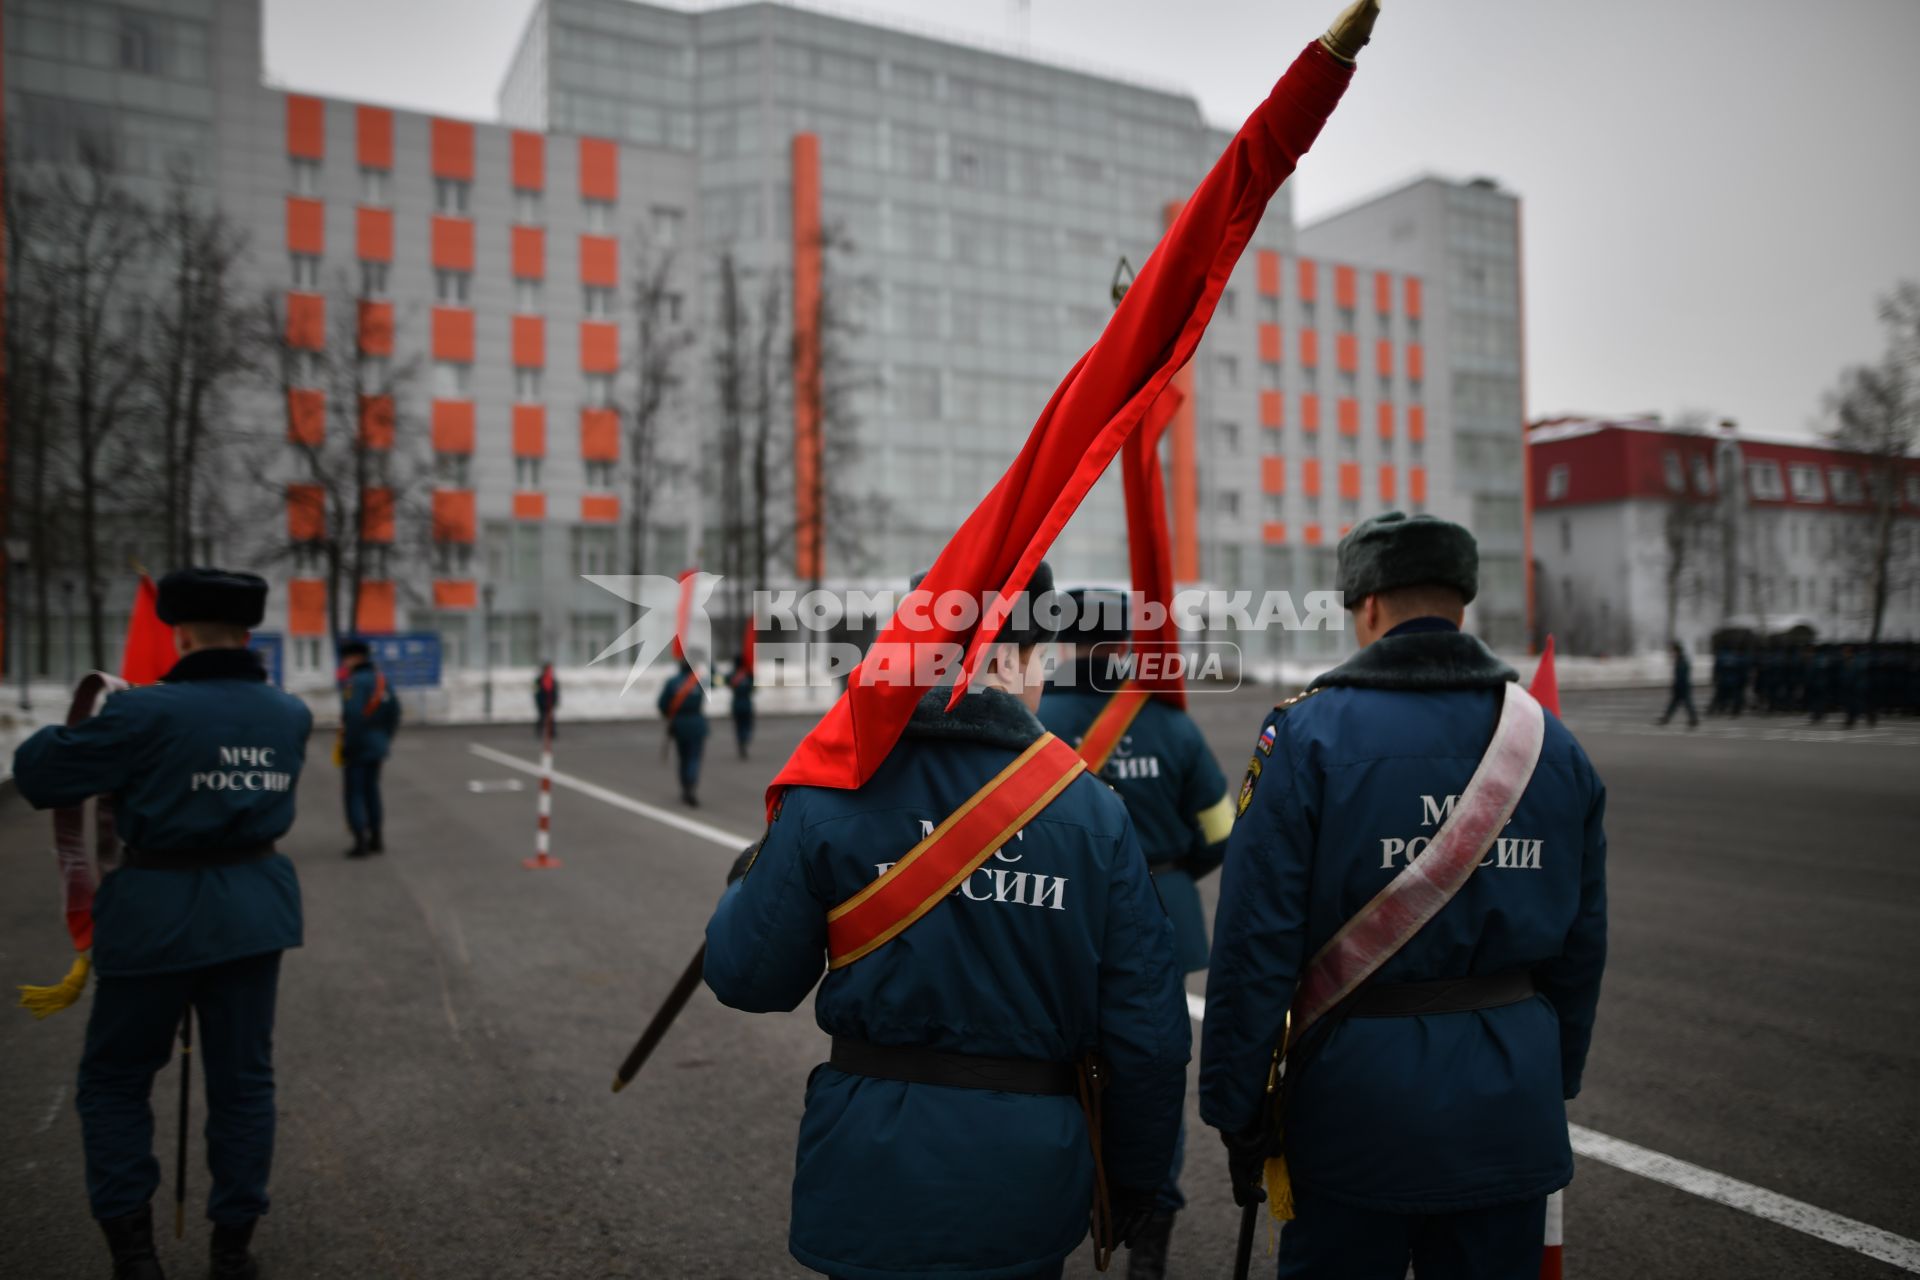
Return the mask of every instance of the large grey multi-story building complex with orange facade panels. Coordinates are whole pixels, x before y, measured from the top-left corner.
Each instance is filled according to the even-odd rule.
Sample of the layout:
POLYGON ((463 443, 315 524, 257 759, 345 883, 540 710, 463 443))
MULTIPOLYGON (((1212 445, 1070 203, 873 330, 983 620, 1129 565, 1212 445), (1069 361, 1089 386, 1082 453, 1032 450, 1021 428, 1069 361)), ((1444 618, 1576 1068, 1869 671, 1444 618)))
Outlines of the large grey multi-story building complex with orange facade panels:
MULTIPOLYGON (((355 622, 434 629, 455 664, 484 631, 524 664, 586 660, 614 629, 618 601, 578 576, 630 564, 639 255, 672 255, 670 309, 695 338, 643 568, 716 558, 703 493, 726 253, 749 297, 781 290, 774 349, 803 353, 781 382, 839 388, 828 420, 783 391, 780 572, 902 580, 1098 336, 1117 259, 1144 261, 1229 138, 1175 88, 770 2, 541 0, 501 123, 263 86, 257 0, 6 0, 6 42, 15 154, 71 157, 79 119, 131 159, 171 138, 250 228, 290 342, 324 342, 328 309, 355 305, 374 320, 363 347, 392 334, 392 355, 365 355, 420 363, 394 420, 430 445, 436 545, 430 562, 396 555, 355 622), (810 332, 824 313, 831 342, 810 332)), ((1475 622, 1524 643, 1515 236, 1511 196, 1428 180, 1296 238, 1283 188, 1183 374, 1167 441, 1183 581, 1329 587, 1346 528, 1425 509, 1480 533, 1475 622)), ((280 415, 296 434, 313 393, 280 415)), ((296 668, 321 670, 324 581, 301 551, 315 495, 298 468, 267 482, 286 487, 288 555, 253 558, 286 581, 273 624, 298 637, 296 668)), ((1125 576, 1117 482, 1052 558, 1073 580, 1125 576)))

